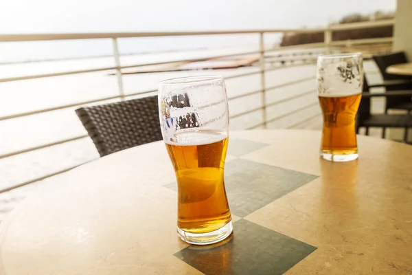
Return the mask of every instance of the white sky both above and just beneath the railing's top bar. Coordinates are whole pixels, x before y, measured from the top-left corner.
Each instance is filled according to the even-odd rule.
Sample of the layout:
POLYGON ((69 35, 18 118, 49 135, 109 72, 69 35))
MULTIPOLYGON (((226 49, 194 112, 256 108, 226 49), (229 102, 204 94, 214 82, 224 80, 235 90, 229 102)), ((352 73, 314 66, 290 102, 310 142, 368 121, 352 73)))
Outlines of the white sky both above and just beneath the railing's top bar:
MULTIPOLYGON (((321 28, 347 14, 395 9, 396 0, 0 0, 0 34, 321 28)), ((273 44, 280 38, 265 41, 272 39, 273 44)), ((125 54, 251 41, 258 39, 119 39, 119 47, 125 54)), ((0 63, 102 56, 112 51, 107 39, 0 43, 0 63)))

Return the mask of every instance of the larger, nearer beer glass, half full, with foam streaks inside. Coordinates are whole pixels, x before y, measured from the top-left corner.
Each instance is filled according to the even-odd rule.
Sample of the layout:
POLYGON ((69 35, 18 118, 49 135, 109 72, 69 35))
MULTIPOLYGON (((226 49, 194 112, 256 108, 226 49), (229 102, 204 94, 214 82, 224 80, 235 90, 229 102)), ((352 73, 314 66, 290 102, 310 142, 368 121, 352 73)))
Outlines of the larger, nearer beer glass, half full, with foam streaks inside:
POLYGON ((222 241, 233 229, 223 179, 229 137, 225 81, 219 76, 162 81, 159 117, 176 175, 179 236, 198 245, 222 241))

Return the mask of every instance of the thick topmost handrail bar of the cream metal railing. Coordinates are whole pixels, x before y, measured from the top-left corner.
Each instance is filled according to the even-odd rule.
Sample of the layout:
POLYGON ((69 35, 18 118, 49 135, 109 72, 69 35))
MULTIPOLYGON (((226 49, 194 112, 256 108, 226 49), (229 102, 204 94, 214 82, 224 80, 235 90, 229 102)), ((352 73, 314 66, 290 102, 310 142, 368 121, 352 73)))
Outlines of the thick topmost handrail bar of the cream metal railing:
POLYGON ((328 28, 317 29, 274 29, 274 30, 221 30, 206 32, 105 32, 105 33, 72 33, 72 34, 0 34, 0 42, 17 41, 49 41, 49 40, 73 40, 73 39, 119 39, 137 37, 158 37, 158 36, 198 36, 215 34, 260 34, 276 32, 324 32, 325 30, 356 30, 362 28, 378 28, 393 25, 393 19, 369 21, 361 23, 346 23, 332 25, 328 28))

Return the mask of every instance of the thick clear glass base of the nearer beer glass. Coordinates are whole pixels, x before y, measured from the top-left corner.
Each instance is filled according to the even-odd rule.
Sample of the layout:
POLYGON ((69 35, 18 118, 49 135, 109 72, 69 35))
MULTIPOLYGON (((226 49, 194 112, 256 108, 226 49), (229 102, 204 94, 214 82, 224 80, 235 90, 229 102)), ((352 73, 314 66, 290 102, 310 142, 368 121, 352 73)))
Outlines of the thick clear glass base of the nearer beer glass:
POLYGON ((219 228, 218 230, 201 234, 185 232, 179 227, 177 228, 177 234, 179 234, 181 239, 186 243, 192 243, 193 245, 209 245, 211 243, 218 243, 219 241, 226 239, 232 231, 232 221, 229 221, 229 223, 226 223, 225 226, 219 228))

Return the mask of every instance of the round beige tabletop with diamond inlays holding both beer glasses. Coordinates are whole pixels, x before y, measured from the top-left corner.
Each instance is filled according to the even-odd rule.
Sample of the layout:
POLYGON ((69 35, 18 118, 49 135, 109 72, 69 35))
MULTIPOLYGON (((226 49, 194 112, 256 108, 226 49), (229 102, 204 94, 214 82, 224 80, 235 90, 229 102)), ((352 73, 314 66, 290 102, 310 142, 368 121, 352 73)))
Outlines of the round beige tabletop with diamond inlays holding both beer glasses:
POLYGON ((410 274, 412 146, 360 135, 360 158, 332 163, 319 142, 318 131, 232 132, 234 234, 205 247, 176 235, 162 142, 84 164, 1 224, 0 273, 410 274))

